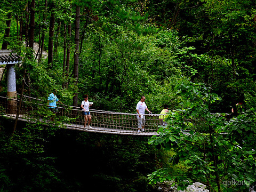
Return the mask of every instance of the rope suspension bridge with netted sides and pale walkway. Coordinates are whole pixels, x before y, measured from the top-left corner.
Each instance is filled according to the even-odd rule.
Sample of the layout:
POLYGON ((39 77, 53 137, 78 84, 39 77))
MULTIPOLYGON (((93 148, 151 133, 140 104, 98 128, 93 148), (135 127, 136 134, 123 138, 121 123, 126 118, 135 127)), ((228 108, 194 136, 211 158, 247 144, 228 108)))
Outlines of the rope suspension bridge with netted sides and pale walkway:
POLYGON ((84 116, 79 107, 59 106, 57 107, 58 112, 51 114, 49 106, 44 102, 30 97, 23 97, 21 101, 19 99, 0 97, 0 115, 15 119, 17 118, 17 111, 19 111, 19 121, 42 122, 46 125, 54 124, 54 121, 51 121, 51 117, 54 116, 58 126, 66 129, 122 135, 158 135, 157 130, 161 126, 159 121, 160 114, 145 114, 145 132, 138 132, 136 114, 90 109, 92 116, 91 127, 85 128, 84 116))

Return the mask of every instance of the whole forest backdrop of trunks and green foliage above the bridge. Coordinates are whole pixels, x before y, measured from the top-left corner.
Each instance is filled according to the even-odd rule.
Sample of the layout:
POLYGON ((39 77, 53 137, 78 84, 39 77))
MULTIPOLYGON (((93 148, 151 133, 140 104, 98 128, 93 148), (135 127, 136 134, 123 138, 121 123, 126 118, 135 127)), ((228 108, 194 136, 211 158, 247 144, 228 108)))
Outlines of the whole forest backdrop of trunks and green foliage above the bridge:
MULTIPOLYGON (((1 43, 22 55, 17 84, 26 70, 31 97, 57 88, 67 105, 89 94, 95 108, 134 112, 148 95, 159 113, 164 103, 177 105, 173 86, 186 79, 211 86, 222 98, 212 110, 229 113, 255 80, 251 7, 251 1, 3 1, 1 43)), ((4 78, 1 85, 4 94, 4 78)))

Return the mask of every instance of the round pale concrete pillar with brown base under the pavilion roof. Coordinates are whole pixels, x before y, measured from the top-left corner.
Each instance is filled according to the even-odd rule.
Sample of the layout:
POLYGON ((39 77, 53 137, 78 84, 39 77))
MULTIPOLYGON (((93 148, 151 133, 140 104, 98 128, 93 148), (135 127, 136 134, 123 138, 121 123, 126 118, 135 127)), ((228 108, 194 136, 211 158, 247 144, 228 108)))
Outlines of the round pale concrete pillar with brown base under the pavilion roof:
MULTIPOLYGON (((16 76, 14 65, 7 64, 7 97, 17 99, 16 76)), ((8 101, 8 113, 15 114, 17 111, 17 101, 8 101)))

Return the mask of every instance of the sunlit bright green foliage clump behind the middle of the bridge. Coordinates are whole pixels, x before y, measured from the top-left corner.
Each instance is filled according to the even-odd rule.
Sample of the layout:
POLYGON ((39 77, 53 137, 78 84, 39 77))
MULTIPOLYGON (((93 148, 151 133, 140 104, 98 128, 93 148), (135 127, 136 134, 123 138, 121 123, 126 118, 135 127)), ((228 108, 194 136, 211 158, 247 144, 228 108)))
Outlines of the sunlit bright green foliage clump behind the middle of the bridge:
POLYGON ((135 97, 155 93, 162 82, 181 75, 178 67, 183 61, 177 57, 189 55, 189 50, 177 45, 179 40, 175 31, 137 36, 120 26, 113 25, 113 30, 115 34, 111 36, 93 28, 93 33, 88 34, 80 60, 80 95, 86 84, 86 92, 92 98, 102 98, 103 101, 98 101, 100 103, 104 100, 111 102, 108 107, 112 108, 106 108, 107 103, 105 106, 98 105, 103 109, 134 111, 135 97), (129 104, 131 102, 133 107, 129 104))

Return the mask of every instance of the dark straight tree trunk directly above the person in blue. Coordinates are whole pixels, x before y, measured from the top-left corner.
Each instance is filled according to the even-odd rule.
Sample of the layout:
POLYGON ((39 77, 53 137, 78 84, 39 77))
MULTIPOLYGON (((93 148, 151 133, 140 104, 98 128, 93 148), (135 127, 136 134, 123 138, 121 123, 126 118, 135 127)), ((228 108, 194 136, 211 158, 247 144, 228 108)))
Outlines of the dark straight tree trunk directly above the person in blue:
POLYGON ((52 67, 53 62, 53 38, 54 38, 54 23, 55 23, 55 13, 54 13, 54 2, 51 4, 51 18, 49 27, 49 43, 48 43, 48 64, 52 67))

